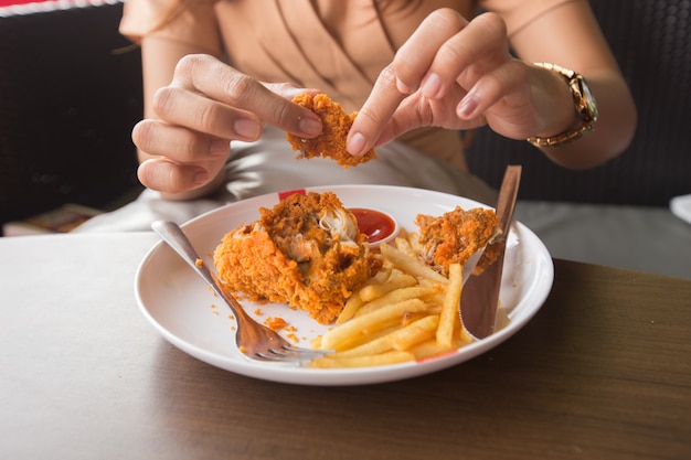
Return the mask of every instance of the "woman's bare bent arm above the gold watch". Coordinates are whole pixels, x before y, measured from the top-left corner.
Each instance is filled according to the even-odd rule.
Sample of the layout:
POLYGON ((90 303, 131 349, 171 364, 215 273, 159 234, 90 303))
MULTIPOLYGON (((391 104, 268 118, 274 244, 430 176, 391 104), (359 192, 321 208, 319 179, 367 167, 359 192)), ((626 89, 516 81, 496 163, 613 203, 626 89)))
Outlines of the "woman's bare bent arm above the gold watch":
MULTIPOLYGON (((595 130, 575 142, 542 149, 548 157, 565 167, 587 168, 626 149, 636 130, 636 106, 587 2, 570 2, 550 11, 515 33, 511 43, 524 61, 551 62, 583 74, 597 101, 599 117, 595 130)), ((563 86, 563 81, 557 77, 560 84, 563 86)), ((566 100, 553 103, 567 108, 570 98, 566 92, 566 100)), ((545 114, 556 110, 544 109, 545 114)), ((563 132, 570 121, 573 118, 565 118, 566 125, 551 126, 539 135, 563 132)))

